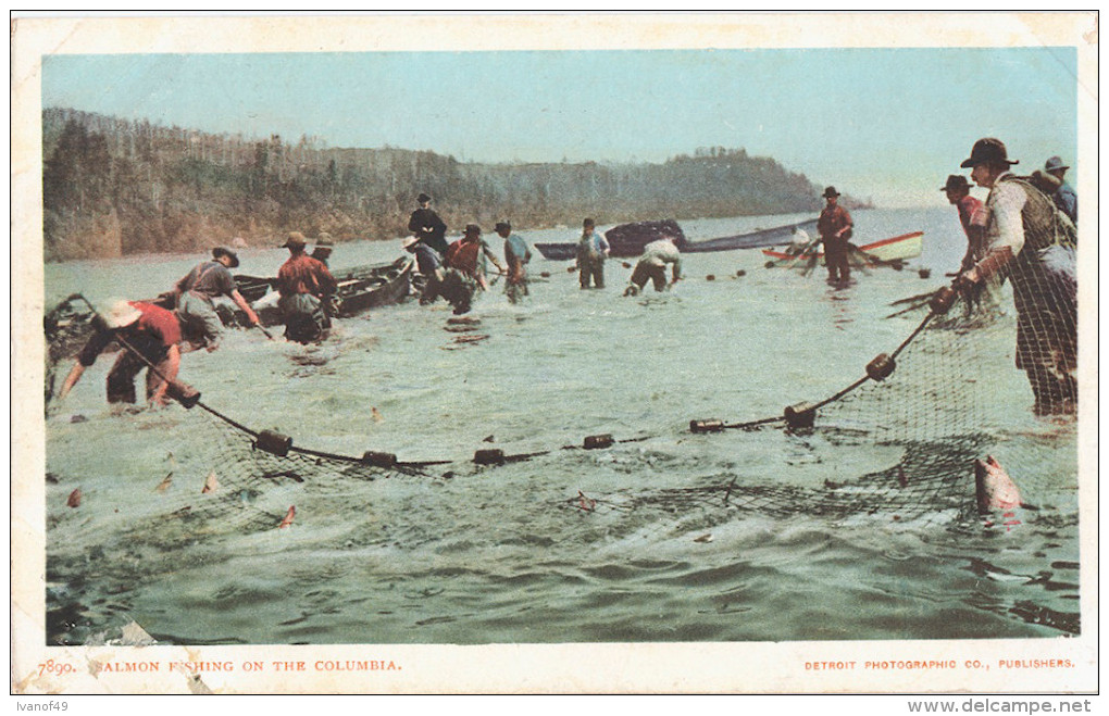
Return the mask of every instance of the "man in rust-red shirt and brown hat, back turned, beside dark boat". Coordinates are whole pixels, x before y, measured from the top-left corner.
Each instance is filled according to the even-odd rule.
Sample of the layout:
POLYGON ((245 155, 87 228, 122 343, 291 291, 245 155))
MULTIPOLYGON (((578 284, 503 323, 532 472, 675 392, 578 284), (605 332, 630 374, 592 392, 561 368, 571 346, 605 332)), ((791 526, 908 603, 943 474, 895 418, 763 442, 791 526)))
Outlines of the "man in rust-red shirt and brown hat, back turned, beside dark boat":
POLYGON ((277 307, 285 318, 285 337, 302 344, 323 340, 332 319, 326 306, 337 288, 327 267, 304 253, 304 234, 291 232, 283 248, 288 260, 277 272, 277 307))

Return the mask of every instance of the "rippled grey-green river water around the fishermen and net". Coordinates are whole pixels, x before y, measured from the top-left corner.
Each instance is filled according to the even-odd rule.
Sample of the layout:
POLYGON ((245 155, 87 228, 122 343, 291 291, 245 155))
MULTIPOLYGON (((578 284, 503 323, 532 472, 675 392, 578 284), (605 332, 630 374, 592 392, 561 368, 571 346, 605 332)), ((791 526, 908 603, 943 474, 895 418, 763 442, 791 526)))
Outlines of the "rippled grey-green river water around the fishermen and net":
MULTIPOLYGON (((696 241, 798 218, 681 224, 696 241)), ((448 324, 442 303, 408 300, 338 321, 322 346, 230 331, 220 350, 183 358, 181 377, 205 405, 305 448, 445 461, 374 480, 323 469, 303 482, 271 480, 243 497, 261 521, 169 526, 179 510, 218 499, 200 494, 206 475, 231 484, 242 470, 234 431, 180 406, 112 413, 103 397, 111 358, 102 357, 47 422, 48 641, 93 643, 131 621, 175 644, 1078 633, 1076 427, 1031 416, 1011 333, 978 341, 980 365, 937 354, 920 364, 936 375, 903 376, 906 362, 895 376, 919 389, 883 402, 882 415, 894 417, 873 418, 865 395, 837 413, 841 426, 872 423, 849 444, 822 433, 820 419, 808 436, 776 427, 690 432, 694 419, 754 420, 821 400, 908 336, 916 321, 883 316, 958 265, 955 212, 859 211, 855 221, 856 244, 924 231, 925 253, 904 272, 856 272, 841 290, 821 269, 766 269, 759 250, 686 255, 686 280, 635 298, 621 297, 630 270, 619 259, 608 263, 603 290, 582 291, 567 263, 537 254, 531 296, 510 305, 495 285, 476 301, 472 326, 448 324), (922 267, 932 278, 917 275, 922 267), (488 338, 458 340, 467 336, 488 338), (969 375, 968 386, 978 372, 990 386, 987 400, 949 420, 960 397, 932 392, 950 387, 940 375, 948 366, 969 375), (904 501, 892 512, 879 498, 855 515, 813 509, 828 484, 897 462, 887 432, 947 440, 952 429, 933 425, 985 436, 975 456, 995 451, 1026 501, 1035 498, 1019 524, 974 512, 969 462, 965 493, 957 488, 912 515, 904 501), (561 449, 601 433, 624 441, 561 449), (475 451, 490 448, 542 454, 475 466, 475 451), (732 488, 719 503, 720 493, 691 499, 721 485, 732 488), (776 490, 773 509, 752 498, 763 487, 776 490), (81 505, 69 508, 77 488, 81 505), (277 529, 289 505, 292 526, 277 529)), ((532 243, 576 234, 520 233, 532 243)), ((332 263, 398 253, 399 239, 344 244, 332 263)), ((285 252, 240 255, 238 272, 273 275, 285 252)), ((151 297, 196 260, 49 265, 47 306, 74 291, 151 297)))

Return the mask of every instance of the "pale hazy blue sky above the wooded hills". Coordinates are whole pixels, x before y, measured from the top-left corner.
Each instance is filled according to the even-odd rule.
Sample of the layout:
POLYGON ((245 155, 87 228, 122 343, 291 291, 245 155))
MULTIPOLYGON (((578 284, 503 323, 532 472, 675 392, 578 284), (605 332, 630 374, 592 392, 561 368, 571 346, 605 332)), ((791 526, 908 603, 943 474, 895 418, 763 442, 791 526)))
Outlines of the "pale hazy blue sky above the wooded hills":
POLYGON ((884 205, 981 136, 1077 162, 1074 48, 50 55, 42 104, 481 162, 745 147, 884 205))

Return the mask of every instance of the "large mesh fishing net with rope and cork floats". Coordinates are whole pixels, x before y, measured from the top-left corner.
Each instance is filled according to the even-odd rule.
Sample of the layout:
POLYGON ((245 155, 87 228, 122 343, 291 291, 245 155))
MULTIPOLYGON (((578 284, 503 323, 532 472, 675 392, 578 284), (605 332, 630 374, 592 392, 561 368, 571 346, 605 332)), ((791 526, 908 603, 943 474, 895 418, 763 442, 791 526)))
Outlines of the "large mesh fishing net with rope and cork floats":
MULTIPOLYGON (((1039 204, 1032 208, 1044 209, 1039 204)), ((861 357, 859 379, 838 393, 791 406, 784 415, 690 426, 693 432, 716 433, 703 434, 705 440, 736 444, 747 439, 746 431, 776 431, 779 442, 771 449, 814 456, 821 466, 808 471, 820 475, 815 482, 791 480, 788 474, 752 478, 705 464, 709 474, 691 485, 571 494, 553 507, 581 512, 696 507, 772 516, 804 512, 836 520, 966 515, 976 512, 980 497, 975 461, 987 454, 1010 470, 1026 503, 1047 504, 1057 500, 1051 495, 1060 482, 1077 482, 1077 457, 1068 442, 1075 429, 1069 416, 1077 405, 1075 288, 1074 247, 1048 229, 1029 231, 1028 247, 981 286, 962 297, 949 289, 922 295, 887 317, 904 326, 905 341, 869 364, 861 357), (1057 418, 1036 420, 1034 415, 1057 418), (869 454, 876 447, 889 459, 852 472, 861 463, 852 454, 869 454)), ((72 355, 88 336, 89 316, 88 308, 82 311, 72 300, 48 316, 52 365, 72 355)), ((48 386, 48 397, 50 392, 48 386)), ((204 403, 187 411, 184 420, 189 444, 210 446, 206 451, 181 451, 189 456, 187 474, 199 481, 194 491, 179 491, 152 503, 149 514, 130 514, 125 521, 69 521, 58 526, 116 531, 133 549, 165 551, 221 533, 277 529, 296 519, 295 510, 289 513, 293 505, 342 501, 344 485, 352 480, 434 480, 445 471, 465 477, 467 471, 542 456, 557 460, 568 448, 550 446, 516 456, 490 449, 475 453, 472 461, 445 456, 415 464, 383 453, 307 450, 302 442, 311 443, 312 436, 292 441, 254 430, 204 403)), ((675 434, 686 432, 675 426, 675 434)), ((629 442, 593 436, 583 446, 569 447, 634 451, 629 442)), ((65 543, 68 536, 73 535, 55 543, 65 543)))

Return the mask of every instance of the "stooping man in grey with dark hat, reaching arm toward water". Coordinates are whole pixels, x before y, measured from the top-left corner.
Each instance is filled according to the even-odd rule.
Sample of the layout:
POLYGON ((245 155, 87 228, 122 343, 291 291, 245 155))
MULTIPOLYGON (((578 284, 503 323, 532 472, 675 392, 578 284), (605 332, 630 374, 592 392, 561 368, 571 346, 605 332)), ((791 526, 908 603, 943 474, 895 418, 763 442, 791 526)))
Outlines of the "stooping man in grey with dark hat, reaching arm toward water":
POLYGON ((201 262, 177 282, 177 319, 181 331, 192 348, 205 347, 212 352, 220 346, 223 321, 215 311, 213 300, 227 296, 238 306, 251 326, 258 325, 258 316, 238 293, 232 268, 238 267, 238 256, 224 246, 212 249, 212 260, 201 262))

